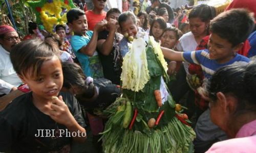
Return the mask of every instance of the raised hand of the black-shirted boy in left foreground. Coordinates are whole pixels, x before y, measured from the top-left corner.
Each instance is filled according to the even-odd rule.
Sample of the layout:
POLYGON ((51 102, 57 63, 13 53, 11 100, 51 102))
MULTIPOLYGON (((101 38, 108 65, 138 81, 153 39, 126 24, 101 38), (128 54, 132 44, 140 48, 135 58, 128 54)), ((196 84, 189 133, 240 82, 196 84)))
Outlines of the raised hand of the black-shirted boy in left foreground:
POLYGON ((76 122, 73 115, 70 113, 68 106, 63 102, 62 96, 53 97, 51 105, 50 117, 56 122, 70 126, 76 122))

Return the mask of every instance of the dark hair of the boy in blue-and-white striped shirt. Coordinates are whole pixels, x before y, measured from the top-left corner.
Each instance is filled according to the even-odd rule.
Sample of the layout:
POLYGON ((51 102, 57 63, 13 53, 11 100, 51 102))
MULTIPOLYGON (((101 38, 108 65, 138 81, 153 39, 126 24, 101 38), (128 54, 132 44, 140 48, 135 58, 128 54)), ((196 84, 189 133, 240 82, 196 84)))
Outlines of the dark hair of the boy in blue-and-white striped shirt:
POLYGON ((233 46, 244 42, 253 29, 253 13, 246 9, 231 9, 210 22, 210 31, 228 40, 233 46))

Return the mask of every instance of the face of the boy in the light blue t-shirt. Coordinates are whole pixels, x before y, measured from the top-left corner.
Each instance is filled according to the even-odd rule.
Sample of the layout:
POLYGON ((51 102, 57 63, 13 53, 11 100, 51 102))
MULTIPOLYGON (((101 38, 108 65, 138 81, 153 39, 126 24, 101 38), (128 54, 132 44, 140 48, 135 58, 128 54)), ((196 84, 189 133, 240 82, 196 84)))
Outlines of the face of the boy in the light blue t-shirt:
POLYGON ((86 15, 81 15, 77 20, 74 20, 70 27, 77 35, 84 35, 86 34, 86 31, 88 30, 88 23, 86 15))

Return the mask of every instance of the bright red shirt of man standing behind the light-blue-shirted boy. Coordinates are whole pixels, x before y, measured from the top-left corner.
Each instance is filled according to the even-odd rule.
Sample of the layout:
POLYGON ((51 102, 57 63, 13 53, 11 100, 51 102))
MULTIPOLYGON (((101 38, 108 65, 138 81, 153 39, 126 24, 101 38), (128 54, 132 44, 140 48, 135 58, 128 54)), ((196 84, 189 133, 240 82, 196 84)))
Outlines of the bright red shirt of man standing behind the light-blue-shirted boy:
POLYGON ((86 11, 86 17, 88 22, 88 29, 93 31, 95 24, 99 21, 105 19, 106 12, 102 12, 102 14, 95 14, 92 10, 86 11))

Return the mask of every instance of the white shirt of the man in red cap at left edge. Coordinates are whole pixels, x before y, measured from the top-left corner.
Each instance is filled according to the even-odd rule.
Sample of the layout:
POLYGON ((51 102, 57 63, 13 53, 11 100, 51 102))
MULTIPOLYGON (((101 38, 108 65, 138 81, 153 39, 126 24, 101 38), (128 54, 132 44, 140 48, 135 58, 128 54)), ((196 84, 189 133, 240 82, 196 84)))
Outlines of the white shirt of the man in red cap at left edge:
POLYGON ((10 53, 0 45, 0 94, 8 94, 15 86, 23 84, 12 66, 10 53))

